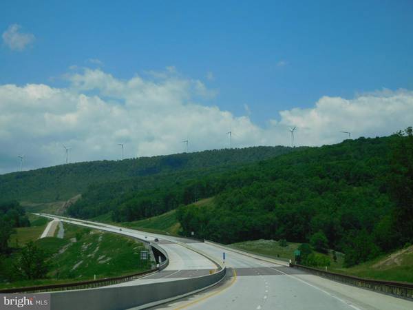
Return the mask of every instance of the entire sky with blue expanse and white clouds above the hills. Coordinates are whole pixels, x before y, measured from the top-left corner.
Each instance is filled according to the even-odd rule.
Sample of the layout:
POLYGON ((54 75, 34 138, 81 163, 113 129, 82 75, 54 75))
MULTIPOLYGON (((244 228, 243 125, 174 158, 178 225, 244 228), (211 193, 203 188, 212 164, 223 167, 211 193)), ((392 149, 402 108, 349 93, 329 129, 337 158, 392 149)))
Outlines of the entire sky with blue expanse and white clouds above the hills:
POLYGON ((287 2, 1 1, 0 174, 412 125, 413 1, 287 2))

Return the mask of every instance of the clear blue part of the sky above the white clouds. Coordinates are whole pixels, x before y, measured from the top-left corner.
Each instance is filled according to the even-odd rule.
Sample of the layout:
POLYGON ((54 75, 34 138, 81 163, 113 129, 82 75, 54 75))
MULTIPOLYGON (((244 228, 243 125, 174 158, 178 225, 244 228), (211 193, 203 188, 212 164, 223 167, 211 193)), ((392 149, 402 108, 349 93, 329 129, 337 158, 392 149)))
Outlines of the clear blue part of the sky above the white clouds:
POLYGON ((1 1, 0 32, 17 24, 34 39, 20 50, 3 39, 0 85, 72 89, 74 65, 119 81, 173 66, 173 79, 215 94, 193 100, 248 116, 259 129, 324 96, 413 90, 413 1, 286 2, 1 1))

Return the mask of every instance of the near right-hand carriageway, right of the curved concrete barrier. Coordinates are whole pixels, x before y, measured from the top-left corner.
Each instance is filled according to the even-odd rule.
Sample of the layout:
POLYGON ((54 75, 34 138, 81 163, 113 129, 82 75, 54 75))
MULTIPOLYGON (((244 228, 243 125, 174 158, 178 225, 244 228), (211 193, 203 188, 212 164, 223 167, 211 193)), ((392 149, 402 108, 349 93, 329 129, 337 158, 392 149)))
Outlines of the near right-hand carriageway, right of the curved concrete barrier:
MULTIPOLYGON (((227 285, 156 309, 413 309, 413 302, 313 276, 215 245, 191 245, 235 270, 227 285), (229 283, 229 284, 228 284, 229 283)), ((228 271, 231 273, 231 271, 228 271)))

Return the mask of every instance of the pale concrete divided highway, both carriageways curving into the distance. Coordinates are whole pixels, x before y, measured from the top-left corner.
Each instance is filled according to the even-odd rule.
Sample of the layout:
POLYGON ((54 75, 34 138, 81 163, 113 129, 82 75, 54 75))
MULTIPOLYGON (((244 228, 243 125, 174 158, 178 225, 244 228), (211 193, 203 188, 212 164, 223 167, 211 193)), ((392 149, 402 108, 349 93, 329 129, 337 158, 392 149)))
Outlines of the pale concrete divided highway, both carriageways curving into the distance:
MULTIPOLYGON (((51 218, 54 216, 50 216, 51 218)), ((120 284, 140 285, 207 274, 216 266, 208 258, 191 251, 196 249, 222 261, 225 252, 226 279, 219 285, 194 296, 172 301, 153 309, 413 309, 413 302, 382 293, 344 285, 300 269, 285 262, 257 259, 209 242, 196 242, 158 234, 149 234, 114 225, 59 217, 63 222, 112 231, 142 240, 159 238, 167 251, 169 266, 151 276, 120 284)))

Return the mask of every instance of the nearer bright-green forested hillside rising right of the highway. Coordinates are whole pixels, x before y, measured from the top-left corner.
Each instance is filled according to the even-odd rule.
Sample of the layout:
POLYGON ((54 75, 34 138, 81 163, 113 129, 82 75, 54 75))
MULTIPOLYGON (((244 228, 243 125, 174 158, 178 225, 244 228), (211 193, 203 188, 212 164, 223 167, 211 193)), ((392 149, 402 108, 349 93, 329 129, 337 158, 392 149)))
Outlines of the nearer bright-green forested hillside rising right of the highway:
POLYGON ((355 265, 413 242, 413 130, 262 161, 203 187, 209 207, 180 207, 187 236, 286 239, 346 253, 355 265))

